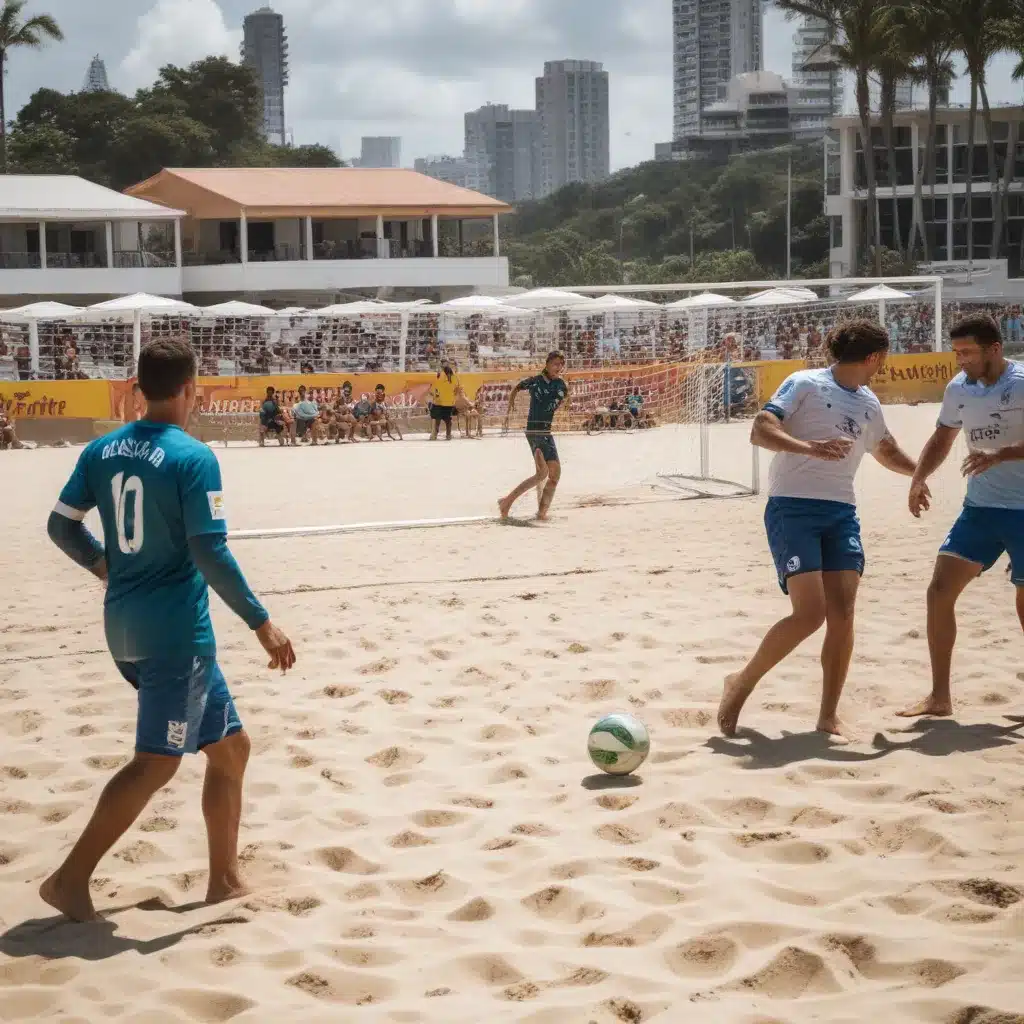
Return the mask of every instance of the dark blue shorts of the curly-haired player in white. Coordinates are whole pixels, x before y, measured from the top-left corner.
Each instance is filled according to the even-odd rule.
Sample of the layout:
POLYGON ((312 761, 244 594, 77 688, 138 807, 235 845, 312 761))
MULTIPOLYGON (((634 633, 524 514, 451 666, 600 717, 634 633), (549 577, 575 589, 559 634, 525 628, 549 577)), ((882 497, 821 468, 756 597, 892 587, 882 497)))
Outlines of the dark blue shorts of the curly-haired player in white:
POLYGON ((786 581, 803 572, 864 573, 857 509, 815 498, 769 498, 765 507, 768 547, 783 594, 786 581))

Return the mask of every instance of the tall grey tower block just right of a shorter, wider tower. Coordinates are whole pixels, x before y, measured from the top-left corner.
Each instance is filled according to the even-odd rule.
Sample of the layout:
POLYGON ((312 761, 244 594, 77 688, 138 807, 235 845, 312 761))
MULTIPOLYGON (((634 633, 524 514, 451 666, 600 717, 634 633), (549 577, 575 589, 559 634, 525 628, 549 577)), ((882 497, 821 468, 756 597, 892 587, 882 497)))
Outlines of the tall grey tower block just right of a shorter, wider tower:
POLYGON ((608 73, 596 60, 550 60, 537 80, 540 196, 611 173, 608 73))

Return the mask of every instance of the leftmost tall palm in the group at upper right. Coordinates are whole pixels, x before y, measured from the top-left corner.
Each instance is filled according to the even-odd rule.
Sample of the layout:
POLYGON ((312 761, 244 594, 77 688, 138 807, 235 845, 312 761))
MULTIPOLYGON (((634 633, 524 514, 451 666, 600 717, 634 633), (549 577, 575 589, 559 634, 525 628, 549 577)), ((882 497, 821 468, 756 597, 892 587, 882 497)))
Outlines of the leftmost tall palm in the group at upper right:
POLYGON ((867 176, 867 240, 874 250, 874 272, 882 276, 874 137, 871 132, 870 77, 889 48, 892 0, 776 0, 788 14, 820 18, 828 26, 829 49, 838 68, 854 77, 857 116, 867 176))

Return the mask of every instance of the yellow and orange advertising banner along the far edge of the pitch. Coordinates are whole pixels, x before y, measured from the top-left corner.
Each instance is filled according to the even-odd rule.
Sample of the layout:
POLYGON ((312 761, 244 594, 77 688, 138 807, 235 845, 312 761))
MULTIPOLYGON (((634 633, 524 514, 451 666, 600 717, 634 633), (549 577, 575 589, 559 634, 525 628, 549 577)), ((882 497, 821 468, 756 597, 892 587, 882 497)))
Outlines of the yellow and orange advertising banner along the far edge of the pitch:
MULTIPOLYGON (((790 374, 805 369, 803 359, 771 362, 736 364, 737 369, 752 372, 756 380, 758 403, 776 391, 790 374)), ((540 369, 540 368, 538 368, 540 369)), ((616 367, 569 373, 574 382, 573 395, 585 399, 592 386, 603 390, 605 385, 627 387, 634 377, 656 379, 657 386, 670 386, 690 369, 687 364, 669 366, 616 367)), ((472 400, 493 400, 496 393, 507 397, 510 382, 521 380, 537 371, 511 370, 492 373, 464 373, 459 378, 472 400)), ((891 355, 885 370, 872 381, 871 387, 883 402, 941 401, 945 386, 956 374, 956 360, 951 352, 922 352, 891 355)), ((284 401, 298 400, 299 385, 304 385, 321 402, 333 402, 347 382, 358 398, 372 395, 383 384, 389 403, 399 409, 422 409, 434 382, 432 373, 396 374, 292 374, 266 377, 201 377, 198 382, 201 408, 207 413, 254 413, 266 394, 274 387, 284 401)), ((625 394, 625 390, 623 391, 625 394)), ((134 419, 140 412, 133 381, 14 381, 0 382, 0 404, 14 420, 117 420, 134 419)))

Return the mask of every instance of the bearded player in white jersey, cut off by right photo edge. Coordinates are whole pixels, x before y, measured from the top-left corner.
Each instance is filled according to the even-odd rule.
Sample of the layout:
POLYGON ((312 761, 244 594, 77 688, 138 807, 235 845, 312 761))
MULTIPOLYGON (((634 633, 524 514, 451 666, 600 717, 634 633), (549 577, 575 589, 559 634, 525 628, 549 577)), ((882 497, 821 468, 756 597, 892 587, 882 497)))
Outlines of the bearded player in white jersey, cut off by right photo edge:
POLYGON ((949 382, 935 433, 921 453, 910 484, 910 512, 920 516, 931 498, 928 478, 945 462, 964 431, 969 455, 964 511, 939 549, 928 587, 928 649, 932 692, 900 714, 951 715, 949 688, 956 642, 956 601, 968 584, 1010 555, 1017 614, 1024 627, 1024 365, 1002 354, 999 327, 971 316, 949 332, 961 373, 949 382))

